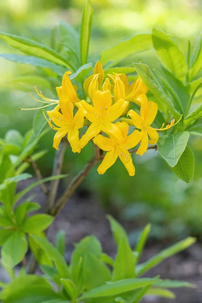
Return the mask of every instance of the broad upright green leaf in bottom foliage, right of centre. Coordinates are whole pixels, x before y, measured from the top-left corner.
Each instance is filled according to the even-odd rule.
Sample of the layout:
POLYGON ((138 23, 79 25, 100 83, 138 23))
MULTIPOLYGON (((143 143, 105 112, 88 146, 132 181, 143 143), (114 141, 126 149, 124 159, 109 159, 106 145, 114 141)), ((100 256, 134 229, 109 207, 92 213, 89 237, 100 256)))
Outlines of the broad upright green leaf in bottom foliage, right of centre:
POLYGON ((135 276, 135 258, 132 249, 128 243, 127 237, 123 237, 118 246, 118 252, 114 261, 112 280, 134 278, 135 276))

